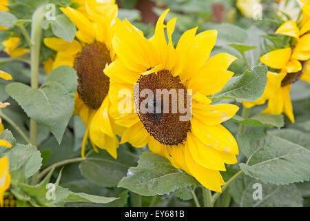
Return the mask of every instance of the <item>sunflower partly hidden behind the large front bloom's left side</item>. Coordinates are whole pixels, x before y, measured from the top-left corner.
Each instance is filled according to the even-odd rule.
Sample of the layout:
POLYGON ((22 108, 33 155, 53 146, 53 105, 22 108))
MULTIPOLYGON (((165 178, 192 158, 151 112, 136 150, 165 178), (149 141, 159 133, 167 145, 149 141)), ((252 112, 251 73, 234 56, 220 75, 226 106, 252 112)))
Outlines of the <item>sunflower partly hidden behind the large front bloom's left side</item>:
POLYGON ((98 151, 98 146, 116 158, 116 133, 121 133, 121 127, 115 125, 109 117, 110 99, 107 92, 110 80, 104 75, 103 69, 114 60, 111 45, 112 23, 117 14, 117 6, 106 7, 101 15, 86 8, 87 17, 90 19, 70 7, 61 10, 78 28, 77 40, 70 43, 61 38, 50 37, 44 39, 44 44, 56 51, 54 61, 48 61, 51 69, 68 65, 73 67, 78 75, 74 114, 81 116, 87 128, 81 155, 85 155, 85 145, 89 137, 95 151, 98 151))

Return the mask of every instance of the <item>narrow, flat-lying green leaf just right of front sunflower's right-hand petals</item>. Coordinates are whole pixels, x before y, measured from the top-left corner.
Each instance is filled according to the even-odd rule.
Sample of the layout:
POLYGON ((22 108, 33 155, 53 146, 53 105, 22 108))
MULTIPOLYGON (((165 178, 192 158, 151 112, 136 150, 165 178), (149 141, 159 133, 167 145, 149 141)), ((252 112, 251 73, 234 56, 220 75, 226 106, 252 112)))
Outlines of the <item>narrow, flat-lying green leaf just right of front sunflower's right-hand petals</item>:
POLYGON ((243 119, 238 115, 234 115, 232 118, 234 122, 238 122, 240 124, 245 124, 248 126, 276 126, 281 128, 284 126, 284 117, 283 115, 267 115, 264 113, 258 113, 253 117, 243 119))

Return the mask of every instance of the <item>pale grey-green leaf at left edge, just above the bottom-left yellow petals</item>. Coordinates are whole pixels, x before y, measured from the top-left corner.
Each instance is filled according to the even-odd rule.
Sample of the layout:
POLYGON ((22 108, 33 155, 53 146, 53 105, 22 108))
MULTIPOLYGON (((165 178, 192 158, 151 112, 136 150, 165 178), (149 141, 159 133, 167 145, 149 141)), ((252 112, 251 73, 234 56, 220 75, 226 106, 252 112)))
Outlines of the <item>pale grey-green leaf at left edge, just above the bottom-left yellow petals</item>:
POLYGON ((37 151, 37 148, 32 144, 16 144, 13 148, 8 149, 8 151, 0 155, 8 155, 10 172, 22 169, 26 178, 31 177, 34 173, 39 171, 42 165, 40 151, 37 151))

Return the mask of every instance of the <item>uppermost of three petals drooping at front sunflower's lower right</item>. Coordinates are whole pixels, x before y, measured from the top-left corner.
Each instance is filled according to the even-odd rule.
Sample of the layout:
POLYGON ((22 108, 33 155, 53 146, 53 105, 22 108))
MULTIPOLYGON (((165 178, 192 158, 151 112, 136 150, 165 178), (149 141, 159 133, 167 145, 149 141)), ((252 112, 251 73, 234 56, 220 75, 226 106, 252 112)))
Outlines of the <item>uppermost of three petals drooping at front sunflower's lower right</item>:
POLYGON ((225 151, 238 155, 238 144, 233 135, 221 124, 216 126, 205 126, 200 119, 192 117, 192 133, 198 137, 203 144, 212 146, 218 151, 225 151))

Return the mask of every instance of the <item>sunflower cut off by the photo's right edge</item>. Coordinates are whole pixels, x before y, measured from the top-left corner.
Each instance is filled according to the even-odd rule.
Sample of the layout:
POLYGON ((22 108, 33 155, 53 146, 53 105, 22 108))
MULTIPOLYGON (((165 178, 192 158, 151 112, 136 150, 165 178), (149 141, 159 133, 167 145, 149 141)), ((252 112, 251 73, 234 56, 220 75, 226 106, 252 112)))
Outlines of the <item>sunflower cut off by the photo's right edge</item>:
POLYGON ((298 79, 310 83, 309 30, 310 1, 303 1, 301 21, 299 23, 287 21, 276 30, 276 34, 291 37, 292 44, 287 48, 273 50, 260 57, 260 61, 269 68, 280 70, 279 74, 268 72, 267 86, 262 97, 255 102, 243 102, 245 107, 251 108, 268 101, 268 106, 262 113, 273 115, 285 113, 291 122, 295 122, 289 91, 291 85, 298 79))

